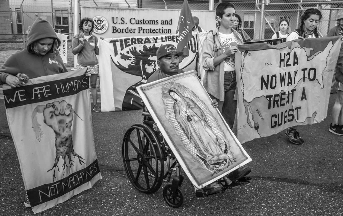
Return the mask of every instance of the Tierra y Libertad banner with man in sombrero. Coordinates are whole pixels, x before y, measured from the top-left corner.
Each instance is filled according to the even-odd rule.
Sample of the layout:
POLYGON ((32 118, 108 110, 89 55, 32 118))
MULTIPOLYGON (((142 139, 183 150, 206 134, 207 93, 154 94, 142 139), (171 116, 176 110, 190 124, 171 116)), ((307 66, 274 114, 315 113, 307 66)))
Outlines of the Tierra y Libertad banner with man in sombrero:
MULTIPOLYGON (((180 70, 197 70, 198 38, 199 35, 193 35, 188 42, 189 56, 180 62, 180 70)), ((136 87, 145 84, 158 69, 157 49, 165 44, 177 46, 177 43, 176 34, 99 40, 101 111, 142 109, 136 87)))

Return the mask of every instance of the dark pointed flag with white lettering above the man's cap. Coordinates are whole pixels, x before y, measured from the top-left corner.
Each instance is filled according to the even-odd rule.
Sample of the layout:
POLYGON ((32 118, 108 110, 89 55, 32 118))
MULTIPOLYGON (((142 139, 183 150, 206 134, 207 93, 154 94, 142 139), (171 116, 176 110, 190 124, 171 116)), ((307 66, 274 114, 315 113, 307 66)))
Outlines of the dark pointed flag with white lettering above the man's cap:
POLYGON ((187 0, 184 0, 180 12, 179 22, 176 29, 176 34, 179 33, 177 51, 183 51, 185 56, 188 56, 187 43, 192 38, 192 28, 194 21, 192 12, 189 9, 187 0))

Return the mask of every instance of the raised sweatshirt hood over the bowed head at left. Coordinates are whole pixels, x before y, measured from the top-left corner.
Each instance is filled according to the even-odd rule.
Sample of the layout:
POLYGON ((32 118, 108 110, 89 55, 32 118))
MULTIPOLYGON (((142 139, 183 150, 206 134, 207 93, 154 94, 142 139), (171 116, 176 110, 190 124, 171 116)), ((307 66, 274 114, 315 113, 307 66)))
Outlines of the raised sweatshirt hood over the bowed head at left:
POLYGON ((57 37, 52 25, 42 17, 38 17, 37 20, 32 24, 30 32, 28 33, 26 48, 28 49, 28 47, 36 40, 47 37, 56 38, 58 41, 58 46, 60 46, 61 41, 57 37))

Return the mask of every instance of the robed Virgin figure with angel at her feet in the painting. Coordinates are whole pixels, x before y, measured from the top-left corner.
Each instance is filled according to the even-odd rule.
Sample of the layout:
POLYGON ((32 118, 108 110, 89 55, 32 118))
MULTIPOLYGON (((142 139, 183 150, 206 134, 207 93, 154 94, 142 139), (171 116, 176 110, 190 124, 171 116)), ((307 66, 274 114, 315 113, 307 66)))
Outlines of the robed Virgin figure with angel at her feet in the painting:
POLYGON ((213 175, 227 168, 234 158, 229 158, 227 143, 213 132, 203 110, 176 88, 170 88, 168 94, 174 100, 177 123, 196 148, 196 155, 206 169, 213 175))

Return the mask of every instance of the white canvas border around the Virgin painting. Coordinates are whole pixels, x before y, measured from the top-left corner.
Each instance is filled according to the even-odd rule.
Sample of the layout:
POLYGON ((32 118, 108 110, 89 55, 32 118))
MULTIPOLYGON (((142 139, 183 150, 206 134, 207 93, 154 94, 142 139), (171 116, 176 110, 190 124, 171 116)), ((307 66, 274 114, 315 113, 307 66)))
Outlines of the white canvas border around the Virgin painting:
MULTIPOLYGON (((227 129, 229 130, 230 134, 232 135, 233 139, 234 139, 234 140, 236 141, 236 143, 241 147, 241 151, 243 152, 243 154, 245 154, 248 158, 247 158, 245 161, 243 161, 241 164, 239 164, 239 165, 233 167, 232 169, 228 170, 227 172, 223 173, 222 175, 217 176, 217 177, 215 177, 215 178, 211 179, 210 181, 207 181, 207 182, 205 182, 205 183, 203 183, 203 184, 200 184, 200 185, 196 184, 196 180, 193 179, 192 175, 190 174, 190 171, 189 171, 188 169, 185 169, 187 166, 185 165, 184 161, 182 160, 182 157, 181 157, 181 156, 178 154, 178 152, 176 151, 176 148, 174 147, 173 142, 170 140, 170 138, 169 138, 167 132, 165 131, 165 129, 163 128, 161 122, 158 121, 158 118, 157 118, 157 116, 156 116, 154 110, 152 109, 151 104, 148 103, 149 100, 147 99, 147 97, 145 96, 145 94, 143 93, 143 91, 142 91, 142 89, 141 89, 142 87, 147 87, 147 86, 150 86, 150 85, 153 85, 153 84, 156 84, 156 83, 164 82, 164 81, 166 81, 166 80, 168 80, 168 79, 169 79, 169 80, 171 80, 171 79, 174 80, 175 78, 177 78, 177 77, 179 77, 179 76, 186 76, 186 75, 188 75, 188 74, 193 74, 194 76, 197 77, 197 75, 195 74, 195 71, 188 71, 188 72, 185 72, 185 73, 173 75, 173 76, 170 76, 170 77, 166 77, 166 78, 164 78, 164 79, 161 79, 161 80, 157 80, 157 81, 154 81, 154 82, 151 82, 151 83, 148 83, 148 84, 144 84, 144 85, 138 86, 138 87, 137 87, 137 91, 138 91, 139 95, 142 97, 142 100, 144 101, 144 105, 145 105, 146 108, 149 110, 150 115, 152 116, 152 118, 154 119, 154 121, 155 121, 155 119, 157 120, 157 121, 155 121, 155 122, 156 122, 156 124, 157 124, 158 129, 161 131, 161 133, 162 133, 164 139, 166 140, 166 142, 169 143, 169 145, 168 145, 169 148, 171 149, 171 151, 172 151, 173 154, 175 155, 175 157, 176 157, 177 161, 179 162, 179 164, 181 165, 182 169, 185 171, 187 177, 189 178, 189 180, 192 182, 192 184, 194 185, 194 187, 195 187, 196 189, 200 189, 200 188, 203 188, 203 187, 205 187, 206 185, 209 185, 210 183, 212 183, 212 182, 214 182, 214 181, 216 181, 216 180, 218 180, 218 179, 223 178, 224 176, 228 175, 230 172, 232 172, 232 171, 238 169, 239 167, 242 167, 242 166, 246 165, 247 163, 249 163, 249 162, 251 161, 251 157, 248 155, 248 153, 245 151, 245 149, 243 148, 243 146, 240 144, 240 142, 238 141, 237 137, 236 137, 236 136, 233 134, 233 132, 230 130, 230 128, 228 127, 228 125, 227 125, 226 121, 224 120, 223 116, 222 116, 221 113, 219 112, 218 108, 216 108, 217 112, 220 114, 220 117, 221 117, 222 121, 225 123, 225 125, 226 125, 227 129)), ((199 80, 199 82, 200 82, 200 80, 199 80)), ((203 85, 201 85, 201 86, 202 86, 203 90, 206 92, 204 86, 203 86, 203 85)), ((208 95, 207 92, 206 92, 206 94, 208 95)), ((208 95, 208 96, 209 96, 209 95, 208 95)), ((210 96, 209 96, 209 98, 210 98, 210 96)), ((210 99, 211 99, 211 98, 210 98, 210 99)))

